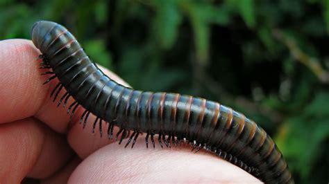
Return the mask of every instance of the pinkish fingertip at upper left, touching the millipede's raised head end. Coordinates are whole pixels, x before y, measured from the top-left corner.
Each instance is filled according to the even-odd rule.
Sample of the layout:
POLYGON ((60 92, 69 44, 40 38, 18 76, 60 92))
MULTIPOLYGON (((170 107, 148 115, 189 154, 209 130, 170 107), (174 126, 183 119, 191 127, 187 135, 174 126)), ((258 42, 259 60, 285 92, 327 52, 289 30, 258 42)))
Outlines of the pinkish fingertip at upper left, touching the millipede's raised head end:
POLYGON ((35 62, 40 53, 26 39, 3 40, 0 48, 0 123, 33 116, 47 91, 35 62))

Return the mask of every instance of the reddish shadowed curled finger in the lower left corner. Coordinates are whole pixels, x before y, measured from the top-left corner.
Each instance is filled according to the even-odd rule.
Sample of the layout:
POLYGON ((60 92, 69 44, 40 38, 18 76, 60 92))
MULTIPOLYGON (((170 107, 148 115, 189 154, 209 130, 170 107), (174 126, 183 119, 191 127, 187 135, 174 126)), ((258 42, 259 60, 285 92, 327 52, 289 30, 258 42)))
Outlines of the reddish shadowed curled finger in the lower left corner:
POLYGON ((0 183, 19 183, 25 176, 45 178, 72 154, 65 137, 28 118, 0 125, 0 183))

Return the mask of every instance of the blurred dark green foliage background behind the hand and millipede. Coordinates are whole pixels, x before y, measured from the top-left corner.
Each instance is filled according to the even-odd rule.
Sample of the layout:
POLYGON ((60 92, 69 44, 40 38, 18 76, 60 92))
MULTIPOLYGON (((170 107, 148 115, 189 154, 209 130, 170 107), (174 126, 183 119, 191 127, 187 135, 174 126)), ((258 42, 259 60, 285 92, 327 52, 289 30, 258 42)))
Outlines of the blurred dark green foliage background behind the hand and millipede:
POLYGON ((40 19, 65 25, 135 89, 245 113, 296 183, 328 183, 328 0, 0 0, 0 39, 30 39, 40 19))

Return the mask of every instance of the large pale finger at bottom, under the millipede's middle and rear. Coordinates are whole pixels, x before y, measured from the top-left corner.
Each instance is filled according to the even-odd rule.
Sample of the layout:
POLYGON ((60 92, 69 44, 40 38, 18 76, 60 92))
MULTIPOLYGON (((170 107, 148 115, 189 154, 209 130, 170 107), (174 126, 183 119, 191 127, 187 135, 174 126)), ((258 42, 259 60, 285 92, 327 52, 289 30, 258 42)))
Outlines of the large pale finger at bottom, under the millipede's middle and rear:
POLYGON ((134 149, 107 145, 83 160, 69 183, 260 183, 243 169, 187 147, 134 149), (147 155, 147 156, 146 156, 147 155))

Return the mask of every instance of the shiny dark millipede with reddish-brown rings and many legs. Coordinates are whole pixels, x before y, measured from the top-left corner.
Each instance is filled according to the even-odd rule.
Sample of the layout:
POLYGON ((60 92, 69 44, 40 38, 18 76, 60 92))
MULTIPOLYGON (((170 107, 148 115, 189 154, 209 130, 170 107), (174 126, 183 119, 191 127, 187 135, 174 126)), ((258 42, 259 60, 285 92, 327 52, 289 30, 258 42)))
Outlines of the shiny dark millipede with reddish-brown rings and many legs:
POLYGON ((90 113, 96 116, 93 132, 99 124, 108 125, 108 138, 127 138, 125 147, 133 147, 140 134, 146 134, 146 147, 192 145, 195 152, 206 149, 259 178, 264 183, 294 183, 287 162, 271 137, 253 120, 218 102, 178 93, 138 91, 118 84, 105 75, 87 56, 74 35, 52 21, 37 21, 32 28, 33 44, 42 53, 42 75, 47 84, 59 82, 51 92, 58 106, 67 105, 74 115, 83 111, 83 128, 90 113), (59 97, 60 91, 66 93, 59 97), (113 134, 113 128, 119 132, 113 134), (131 134, 130 134, 131 133, 131 134), (157 138, 158 140, 156 140, 157 138), (149 142, 151 140, 151 142, 149 142))

